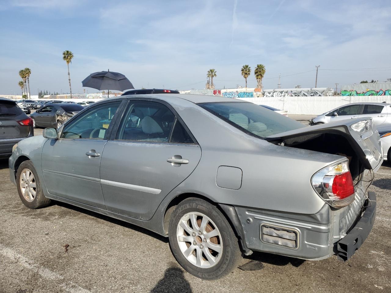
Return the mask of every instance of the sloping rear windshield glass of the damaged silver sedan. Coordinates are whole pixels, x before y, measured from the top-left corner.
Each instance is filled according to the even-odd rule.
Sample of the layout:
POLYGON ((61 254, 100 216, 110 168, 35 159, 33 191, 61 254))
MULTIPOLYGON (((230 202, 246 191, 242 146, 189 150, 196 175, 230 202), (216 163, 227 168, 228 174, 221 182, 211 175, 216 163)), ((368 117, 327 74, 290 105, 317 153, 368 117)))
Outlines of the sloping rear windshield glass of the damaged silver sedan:
POLYGON ((305 127, 298 121, 253 103, 222 102, 198 105, 243 132, 260 138, 305 127))

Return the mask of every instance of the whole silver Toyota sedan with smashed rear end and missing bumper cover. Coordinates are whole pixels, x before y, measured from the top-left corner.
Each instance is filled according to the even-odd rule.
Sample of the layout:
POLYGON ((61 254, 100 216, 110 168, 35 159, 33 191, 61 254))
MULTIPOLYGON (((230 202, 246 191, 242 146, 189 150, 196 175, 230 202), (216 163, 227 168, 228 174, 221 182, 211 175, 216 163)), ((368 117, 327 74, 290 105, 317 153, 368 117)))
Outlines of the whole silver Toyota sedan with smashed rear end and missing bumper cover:
POLYGON ((27 207, 56 200, 152 230, 210 280, 253 251, 349 259, 375 221, 364 177, 381 150, 371 118, 305 127, 238 99, 129 95, 24 139, 9 172, 27 207))

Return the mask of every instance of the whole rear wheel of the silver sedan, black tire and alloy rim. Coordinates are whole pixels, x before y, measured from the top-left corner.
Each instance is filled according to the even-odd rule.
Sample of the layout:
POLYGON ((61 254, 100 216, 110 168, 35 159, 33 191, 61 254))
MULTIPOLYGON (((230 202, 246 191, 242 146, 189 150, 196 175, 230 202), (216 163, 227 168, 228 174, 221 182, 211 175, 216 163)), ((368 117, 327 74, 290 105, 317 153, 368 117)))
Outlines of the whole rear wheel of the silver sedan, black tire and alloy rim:
POLYGON ((187 198, 174 209, 169 241, 178 263, 201 279, 220 279, 241 259, 238 239, 226 217, 199 198, 187 198))

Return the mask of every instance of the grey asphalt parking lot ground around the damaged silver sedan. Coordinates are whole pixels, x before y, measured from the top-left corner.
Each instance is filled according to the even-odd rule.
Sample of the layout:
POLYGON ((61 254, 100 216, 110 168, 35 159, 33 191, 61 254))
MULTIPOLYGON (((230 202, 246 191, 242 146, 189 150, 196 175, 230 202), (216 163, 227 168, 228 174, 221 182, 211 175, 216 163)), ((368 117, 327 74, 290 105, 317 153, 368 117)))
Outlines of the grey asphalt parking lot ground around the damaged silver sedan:
POLYGON ((0 161, 0 186, 0 293, 391 292, 387 163, 368 189, 377 193, 375 225, 349 261, 255 252, 228 277, 214 281, 187 273, 167 238, 140 227, 58 202, 26 208, 9 181, 7 160, 0 161))

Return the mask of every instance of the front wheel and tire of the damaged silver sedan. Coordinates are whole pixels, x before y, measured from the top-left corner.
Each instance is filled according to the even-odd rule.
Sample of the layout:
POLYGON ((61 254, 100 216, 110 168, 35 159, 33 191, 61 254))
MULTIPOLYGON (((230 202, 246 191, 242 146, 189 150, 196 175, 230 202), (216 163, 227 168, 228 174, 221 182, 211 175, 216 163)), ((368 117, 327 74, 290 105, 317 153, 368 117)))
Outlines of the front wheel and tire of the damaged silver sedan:
POLYGON ((16 186, 20 200, 30 209, 39 209, 50 204, 50 199, 43 195, 41 181, 30 160, 22 162, 16 172, 16 186))

